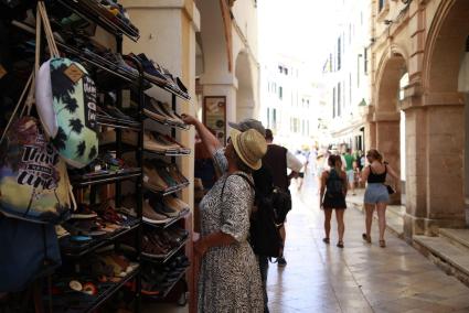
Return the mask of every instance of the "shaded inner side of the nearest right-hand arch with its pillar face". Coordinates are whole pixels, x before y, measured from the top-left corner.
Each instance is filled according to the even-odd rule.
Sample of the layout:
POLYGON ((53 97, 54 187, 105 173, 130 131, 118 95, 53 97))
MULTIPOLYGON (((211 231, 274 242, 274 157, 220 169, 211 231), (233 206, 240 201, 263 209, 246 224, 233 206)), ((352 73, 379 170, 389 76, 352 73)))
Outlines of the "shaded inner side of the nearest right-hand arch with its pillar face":
POLYGON ((463 160, 468 149, 458 76, 469 34, 468 15, 469 1, 441 1, 425 47, 426 218, 439 227, 461 227, 466 219, 463 160))

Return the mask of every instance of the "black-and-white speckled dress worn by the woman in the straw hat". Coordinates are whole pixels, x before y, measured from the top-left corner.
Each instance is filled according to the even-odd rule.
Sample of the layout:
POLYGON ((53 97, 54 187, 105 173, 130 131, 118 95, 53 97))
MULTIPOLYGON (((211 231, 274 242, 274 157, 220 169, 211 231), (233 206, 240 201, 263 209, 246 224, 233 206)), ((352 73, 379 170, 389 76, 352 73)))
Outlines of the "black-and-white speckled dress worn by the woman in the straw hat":
MULTIPOLYGON (((221 151, 214 159, 222 170, 226 169, 221 151)), ((233 236, 236 242, 210 248, 203 257, 199 312, 264 312, 259 267, 247 241, 254 191, 239 175, 252 181, 244 172, 224 174, 200 204, 202 237, 221 230, 233 236)))

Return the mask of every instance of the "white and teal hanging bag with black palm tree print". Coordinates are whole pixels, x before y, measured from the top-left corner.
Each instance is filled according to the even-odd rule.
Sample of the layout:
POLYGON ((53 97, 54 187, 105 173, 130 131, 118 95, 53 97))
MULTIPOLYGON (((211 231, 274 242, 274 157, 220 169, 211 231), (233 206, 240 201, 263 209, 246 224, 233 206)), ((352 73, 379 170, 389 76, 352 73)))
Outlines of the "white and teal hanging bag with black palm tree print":
POLYGON ((36 29, 42 20, 51 51, 51 58, 38 73, 38 114, 61 156, 81 169, 98 154, 95 83, 79 63, 60 57, 42 1, 38 2, 38 11, 41 18, 36 29))

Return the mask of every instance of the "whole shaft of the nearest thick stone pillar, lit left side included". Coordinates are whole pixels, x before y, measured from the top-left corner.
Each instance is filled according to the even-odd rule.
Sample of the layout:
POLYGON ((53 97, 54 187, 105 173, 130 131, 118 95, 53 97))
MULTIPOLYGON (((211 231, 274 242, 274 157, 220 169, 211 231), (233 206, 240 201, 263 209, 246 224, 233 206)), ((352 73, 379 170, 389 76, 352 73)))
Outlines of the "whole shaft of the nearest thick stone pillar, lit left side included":
POLYGON ((427 94, 406 112, 405 235, 434 235, 465 226, 463 101, 459 94, 427 94))

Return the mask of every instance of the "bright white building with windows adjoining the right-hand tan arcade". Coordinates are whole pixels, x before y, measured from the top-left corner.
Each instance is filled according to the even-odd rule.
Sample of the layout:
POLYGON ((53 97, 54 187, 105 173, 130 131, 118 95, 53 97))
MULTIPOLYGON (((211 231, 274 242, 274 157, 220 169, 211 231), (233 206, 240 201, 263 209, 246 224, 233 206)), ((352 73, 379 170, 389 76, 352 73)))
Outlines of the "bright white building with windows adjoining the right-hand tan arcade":
POLYGON ((333 46, 322 68, 328 104, 327 144, 363 150, 363 106, 370 102, 370 1, 334 0, 333 46))

